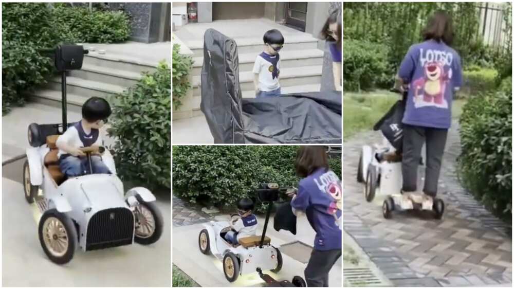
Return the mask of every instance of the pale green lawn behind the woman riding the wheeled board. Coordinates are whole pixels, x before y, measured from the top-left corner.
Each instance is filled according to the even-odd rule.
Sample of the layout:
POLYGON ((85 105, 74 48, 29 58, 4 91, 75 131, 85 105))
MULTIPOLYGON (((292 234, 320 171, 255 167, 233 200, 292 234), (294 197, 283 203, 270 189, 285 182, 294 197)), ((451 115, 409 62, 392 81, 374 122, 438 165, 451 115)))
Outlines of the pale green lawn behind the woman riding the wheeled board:
MULTIPOLYGON (((343 125, 344 140, 358 132, 370 131, 373 125, 400 99, 400 95, 389 91, 373 91, 364 93, 344 93, 343 125)), ((455 99, 452 102, 452 118, 458 119, 466 99, 455 99)))

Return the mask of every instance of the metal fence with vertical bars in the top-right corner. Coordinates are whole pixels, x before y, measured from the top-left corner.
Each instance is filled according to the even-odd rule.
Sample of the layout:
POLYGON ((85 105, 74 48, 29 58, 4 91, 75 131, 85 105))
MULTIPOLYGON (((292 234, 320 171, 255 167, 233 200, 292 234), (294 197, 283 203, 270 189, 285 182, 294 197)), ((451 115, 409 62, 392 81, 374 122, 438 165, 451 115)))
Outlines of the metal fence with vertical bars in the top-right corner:
POLYGON ((507 5, 507 3, 489 2, 476 5, 480 15, 480 28, 477 36, 482 37, 484 44, 505 47, 511 40, 512 30, 504 20, 505 17, 508 17, 509 23, 512 23, 510 10, 505 9, 507 5))

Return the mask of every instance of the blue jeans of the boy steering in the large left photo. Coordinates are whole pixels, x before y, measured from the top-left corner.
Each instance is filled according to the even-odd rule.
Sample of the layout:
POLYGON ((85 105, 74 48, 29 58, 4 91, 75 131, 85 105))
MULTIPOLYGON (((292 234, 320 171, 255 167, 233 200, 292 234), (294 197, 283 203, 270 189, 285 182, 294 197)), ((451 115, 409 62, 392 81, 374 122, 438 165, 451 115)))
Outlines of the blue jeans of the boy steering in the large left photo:
MULTIPOLYGON (((95 174, 110 174, 111 171, 103 163, 102 158, 97 155, 91 156, 91 167, 95 174)), ((59 160, 61 172, 67 176, 81 176, 89 172, 87 157, 66 156, 59 160)))

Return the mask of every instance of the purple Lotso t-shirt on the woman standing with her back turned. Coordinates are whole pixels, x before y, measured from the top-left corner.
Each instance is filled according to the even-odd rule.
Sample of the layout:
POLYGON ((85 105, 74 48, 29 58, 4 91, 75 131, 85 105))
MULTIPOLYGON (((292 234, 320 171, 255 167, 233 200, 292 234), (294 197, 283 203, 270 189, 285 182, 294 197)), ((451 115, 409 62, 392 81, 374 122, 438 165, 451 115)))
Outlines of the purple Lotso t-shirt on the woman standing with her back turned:
POLYGON ((453 92, 462 85, 461 57, 444 42, 428 40, 411 46, 398 76, 409 83, 403 123, 448 129, 453 92))

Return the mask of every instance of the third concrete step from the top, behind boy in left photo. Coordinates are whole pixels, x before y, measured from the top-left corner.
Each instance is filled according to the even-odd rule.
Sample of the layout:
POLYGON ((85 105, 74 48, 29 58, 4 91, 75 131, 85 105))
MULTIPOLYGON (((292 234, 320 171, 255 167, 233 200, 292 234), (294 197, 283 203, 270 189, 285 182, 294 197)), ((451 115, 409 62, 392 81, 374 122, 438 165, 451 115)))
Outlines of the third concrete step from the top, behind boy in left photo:
MULTIPOLYGON (((85 98, 98 96, 107 98, 113 94, 122 93, 125 87, 77 77, 67 77, 67 94, 79 95, 85 98)), ((54 78, 44 87, 53 91, 61 91, 61 78, 54 78)))

